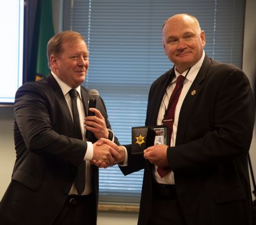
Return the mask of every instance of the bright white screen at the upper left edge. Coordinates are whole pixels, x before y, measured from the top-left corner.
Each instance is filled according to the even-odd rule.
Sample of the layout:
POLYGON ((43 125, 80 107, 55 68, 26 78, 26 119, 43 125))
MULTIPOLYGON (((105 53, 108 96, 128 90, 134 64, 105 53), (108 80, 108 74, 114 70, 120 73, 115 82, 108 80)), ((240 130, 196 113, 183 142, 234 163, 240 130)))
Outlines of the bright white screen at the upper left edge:
POLYGON ((24 0, 4 1, 0 27, 0 102, 13 103, 22 85, 24 0))

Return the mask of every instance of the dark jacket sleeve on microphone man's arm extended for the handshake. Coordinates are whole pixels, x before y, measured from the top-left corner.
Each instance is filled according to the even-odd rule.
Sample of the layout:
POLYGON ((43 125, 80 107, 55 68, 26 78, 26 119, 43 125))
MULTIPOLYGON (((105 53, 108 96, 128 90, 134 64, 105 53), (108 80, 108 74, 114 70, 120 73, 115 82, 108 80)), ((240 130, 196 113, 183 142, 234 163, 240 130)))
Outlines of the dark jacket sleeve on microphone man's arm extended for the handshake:
MULTIPOLYGON (((21 140, 26 148, 43 157, 52 157, 58 161, 79 165, 84 158, 87 149, 87 143, 83 140, 70 138, 67 135, 57 132, 54 127, 65 126, 65 120, 61 118, 60 112, 54 112, 60 107, 52 106, 49 99, 56 98, 54 93, 47 95, 41 87, 35 82, 28 82, 16 93, 15 96, 15 123, 19 130, 21 140), (58 121, 52 120, 53 113, 60 117, 58 121), (58 124, 59 123, 59 124, 58 124)), ((60 99, 56 99, 56 102, 60 99)), ((17 143, 19 145, 19 143, 17 143)))

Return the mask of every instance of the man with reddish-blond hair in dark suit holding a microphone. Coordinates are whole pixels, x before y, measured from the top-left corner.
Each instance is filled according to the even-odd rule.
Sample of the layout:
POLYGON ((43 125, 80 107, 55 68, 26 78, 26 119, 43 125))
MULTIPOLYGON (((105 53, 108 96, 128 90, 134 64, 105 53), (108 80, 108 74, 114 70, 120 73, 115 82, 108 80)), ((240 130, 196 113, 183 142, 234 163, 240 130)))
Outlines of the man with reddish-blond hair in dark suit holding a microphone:
POLYGON ((91 109, 95 116, 86 117, 85 122, 86 130, 94 136, 92 140, 85 138, 88 89, 81 83, 89 61, 83 36, 73 31, 56 34, 47 45, 47 57, 49 76, 25 83, 16 94, 17 158, 12 181, 0 204, 0 224, 95 225, 99 171, 90 161, 115 163, 119 156, 117 145, 110 141, 108 145, 97 145, 98 139, 111 136, 108 114, 100 97, 96 108, 91 109), (81 139, 74 134, 70 89, 77 94, 81 139), (79 192, 74 180, 82 164, 86 168, 82 171, 85 187, 79 192))

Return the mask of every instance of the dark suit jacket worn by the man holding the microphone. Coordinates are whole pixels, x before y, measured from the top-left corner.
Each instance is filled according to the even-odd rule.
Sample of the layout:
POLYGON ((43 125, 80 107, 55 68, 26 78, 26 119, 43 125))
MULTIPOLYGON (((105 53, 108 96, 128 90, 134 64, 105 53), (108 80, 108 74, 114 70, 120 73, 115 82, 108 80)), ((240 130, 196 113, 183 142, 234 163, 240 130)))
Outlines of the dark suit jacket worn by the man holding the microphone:
MULTIPOLYGON (((81 86, 85 112, 87 95, 88 89, 81 86)), ((110 128, 101 98, 97 99, 96 108, 110 128)), ((12 181, 1 201, 0 224, 52 224, 67 199, 87 144, 72 138, 72 117, 51 74, 39 82, 22 85, 16 94, 14 111, 17 159, 12 181)), ((92 173, 93 193, 98 202, 98 168, 92 166, 92 173)))

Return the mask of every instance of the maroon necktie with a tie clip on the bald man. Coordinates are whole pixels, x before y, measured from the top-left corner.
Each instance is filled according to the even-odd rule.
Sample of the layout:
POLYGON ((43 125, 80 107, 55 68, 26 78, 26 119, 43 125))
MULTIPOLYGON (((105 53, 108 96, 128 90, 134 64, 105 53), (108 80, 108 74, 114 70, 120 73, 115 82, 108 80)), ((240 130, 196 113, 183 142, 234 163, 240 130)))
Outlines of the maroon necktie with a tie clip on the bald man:
MULTIPOLYGON (((166 115, 164 115, 164 119, 163 119, 163 125, 169 127, 170 140, 172 138, 172 129, 173 129, 173 122, 174 122, 175 108, 176 108, 176 105, 179 101, 179 96, 180 96, 180 92, 182 91, 184 80, 185 80, 184 76, 182 76, 182 75, 178 76, 176 85, 173 89, 171 98, 170 98, 169 103, 168 103, 168 108, 167 108, 167 111, 166 111, 166 115)), ((170 170, 169 166, 166 166, 166 167, 158 166, 157 167, 157 173, 159 173, 161 178, 163 178, 168 173, 170 173, 170 171, 171 170, 170 170)))

